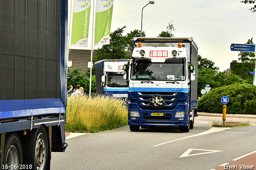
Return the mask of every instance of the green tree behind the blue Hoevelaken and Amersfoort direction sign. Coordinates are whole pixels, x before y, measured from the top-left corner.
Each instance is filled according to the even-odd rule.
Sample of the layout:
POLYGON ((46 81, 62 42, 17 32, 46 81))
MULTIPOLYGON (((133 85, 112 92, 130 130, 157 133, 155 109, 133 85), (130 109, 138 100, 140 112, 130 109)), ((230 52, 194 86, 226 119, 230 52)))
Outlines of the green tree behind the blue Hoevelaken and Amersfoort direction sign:
MULTIPOLYGON (((249 39, 246 44, 253 44, 252 38, 249 39)), ((234 65, 231 72, 239 75, 242 79, 248 81, 249 84, 252 84, 253 75, 250 74, 250 71, 254 71, 255 69, 255 53, 241 51, 238 56, 240 56, 238 60, 241 61, 241 63, 234 65)))

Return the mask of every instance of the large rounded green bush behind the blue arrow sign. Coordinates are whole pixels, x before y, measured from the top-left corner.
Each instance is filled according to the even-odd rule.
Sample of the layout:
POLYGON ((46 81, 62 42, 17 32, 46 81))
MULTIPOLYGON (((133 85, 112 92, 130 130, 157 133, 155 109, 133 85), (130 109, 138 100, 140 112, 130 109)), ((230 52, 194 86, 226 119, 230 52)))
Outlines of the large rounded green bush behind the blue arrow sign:
POLYGON ((256 115, 256 87, 250 84, 233 84, 211 89, 198 101, 198 111, 222 113, 223 104, 220 99, 223 96, 229 98, 227 114, 256 115))

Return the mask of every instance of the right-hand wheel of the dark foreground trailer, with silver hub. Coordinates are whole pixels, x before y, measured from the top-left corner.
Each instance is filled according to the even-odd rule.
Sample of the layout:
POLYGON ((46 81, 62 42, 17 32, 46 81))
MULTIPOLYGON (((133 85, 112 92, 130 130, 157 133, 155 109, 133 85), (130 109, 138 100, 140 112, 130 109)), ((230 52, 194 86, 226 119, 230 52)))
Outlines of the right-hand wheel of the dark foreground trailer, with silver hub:
POLYGON ((44 126, 33 129, 28 141, 28 164, 32 170, 46 170, 48 160, 48 138, 44 126))

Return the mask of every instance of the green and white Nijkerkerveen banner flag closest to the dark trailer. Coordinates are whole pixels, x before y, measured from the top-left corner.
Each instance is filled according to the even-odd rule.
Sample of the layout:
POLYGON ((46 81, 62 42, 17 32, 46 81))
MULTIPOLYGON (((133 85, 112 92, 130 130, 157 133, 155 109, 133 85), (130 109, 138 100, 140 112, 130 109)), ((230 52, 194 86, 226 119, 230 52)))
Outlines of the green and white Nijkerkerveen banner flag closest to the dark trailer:
POLYGON ((74 0, 71 49, 87 47, 91 0, 74 0))

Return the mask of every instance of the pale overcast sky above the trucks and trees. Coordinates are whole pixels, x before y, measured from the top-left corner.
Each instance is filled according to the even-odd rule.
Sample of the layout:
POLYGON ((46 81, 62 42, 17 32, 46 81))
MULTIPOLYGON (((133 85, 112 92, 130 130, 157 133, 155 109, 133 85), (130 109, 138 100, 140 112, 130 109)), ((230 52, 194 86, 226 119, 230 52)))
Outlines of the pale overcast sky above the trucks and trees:
POLYGON ((157 37, 172 22, 174 37, 192 37, 198 55, 224 71, 232 60, 238 61, 239 51, 231 51, 231 43, 244 44, 250 38, 256 43, 256 12, 249 10, 252 4, 240 1, 154 0, 154 4, 148 4, 149 0, 114 0, 110 32, 123 26, 126 26, 123 36, 140 30, 142 8, 148 4, 143 9, 142 22, 146 37, 157 37))

